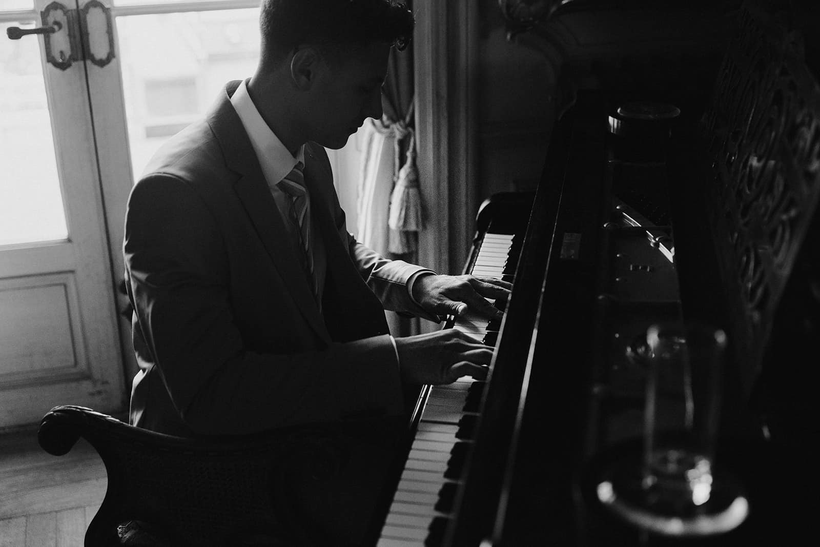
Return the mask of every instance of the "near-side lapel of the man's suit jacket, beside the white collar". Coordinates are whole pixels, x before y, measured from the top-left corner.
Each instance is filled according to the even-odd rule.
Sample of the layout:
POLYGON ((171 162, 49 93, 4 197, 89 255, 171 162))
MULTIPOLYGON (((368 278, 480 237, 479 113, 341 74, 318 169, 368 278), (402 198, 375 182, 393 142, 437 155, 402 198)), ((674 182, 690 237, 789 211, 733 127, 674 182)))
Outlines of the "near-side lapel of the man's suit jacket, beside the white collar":
POLYGON ((307 276, 300 266, 298 248, 285 237, 287 233, 285 224, 276 207, 276 201, 267 187, 262 167, 253 152, 242 121, 239 120, 233 105, 230 104, 230 95, 238 85, 238 81, 228 85, 216 110, 209 116, 208 123, 216 139, 221 143, 226 165, 240 175, 239 180, 235 182, 236 194, 276 270, 287 283, 290 298, 294 299, 294 303, 302 312, 305 320, 313 327, 313 330, 316 330, 321 339, 330 342, 330 333, 313 299, 307 276))

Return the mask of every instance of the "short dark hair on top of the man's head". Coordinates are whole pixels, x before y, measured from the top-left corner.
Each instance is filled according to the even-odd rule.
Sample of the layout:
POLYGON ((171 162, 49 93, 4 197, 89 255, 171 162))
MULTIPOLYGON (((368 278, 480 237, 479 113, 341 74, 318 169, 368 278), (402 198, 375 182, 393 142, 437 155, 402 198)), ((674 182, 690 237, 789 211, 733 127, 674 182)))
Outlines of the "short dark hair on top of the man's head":
POLYGON ((407 47, 412 11, 398 0, 263 0, 262 57, 277 62, 301 44, 407 47))

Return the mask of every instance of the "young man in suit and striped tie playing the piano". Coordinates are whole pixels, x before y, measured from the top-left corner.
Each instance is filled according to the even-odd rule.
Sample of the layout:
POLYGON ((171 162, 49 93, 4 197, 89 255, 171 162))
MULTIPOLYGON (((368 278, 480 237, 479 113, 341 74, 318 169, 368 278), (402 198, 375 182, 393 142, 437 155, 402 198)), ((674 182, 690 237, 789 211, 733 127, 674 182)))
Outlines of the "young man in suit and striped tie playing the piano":
MULTIPOLYGON (((385 260, 345 227, 324 147, 380 118, 389 49, 408 43, 412 13, 389 0, 265 0, 260 22, 257 71, 226 84, 130 195, 130 421, 153 431, 401 416, 403 386, 483 377, 492 352, 451 329, 394 339, 384 309, 494 318, 485 297, 510 289, 385 260)), ((346 479, 306 502, 352 543, 390 454, 368 443, 380 449, 360 450, 346 479)))

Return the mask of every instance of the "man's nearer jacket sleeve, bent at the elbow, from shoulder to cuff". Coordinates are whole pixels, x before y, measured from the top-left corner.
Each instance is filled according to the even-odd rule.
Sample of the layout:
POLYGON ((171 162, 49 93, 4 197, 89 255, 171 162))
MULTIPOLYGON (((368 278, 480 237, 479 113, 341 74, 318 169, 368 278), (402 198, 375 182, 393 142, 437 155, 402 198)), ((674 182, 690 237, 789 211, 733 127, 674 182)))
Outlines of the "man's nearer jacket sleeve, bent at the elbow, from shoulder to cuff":
POLYGON ((304 353, 245 347, 231 308, 229 258, 216 218, 184 180, 152 175, 134 187, 124 255, 141 373, 157 367, 176 411, 193 431, 246 433, 362 413, 402 413, 389 335, 304 353))

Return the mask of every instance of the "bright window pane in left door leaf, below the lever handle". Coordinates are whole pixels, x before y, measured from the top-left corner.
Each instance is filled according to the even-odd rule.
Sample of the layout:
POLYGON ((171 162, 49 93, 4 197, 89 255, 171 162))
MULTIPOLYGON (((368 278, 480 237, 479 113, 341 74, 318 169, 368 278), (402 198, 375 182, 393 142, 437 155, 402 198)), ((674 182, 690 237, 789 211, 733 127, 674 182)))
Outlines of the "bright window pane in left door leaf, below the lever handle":
POLYGON ((37 40, 8 40, 0 24, 0 245, 66 239, 37 40))

